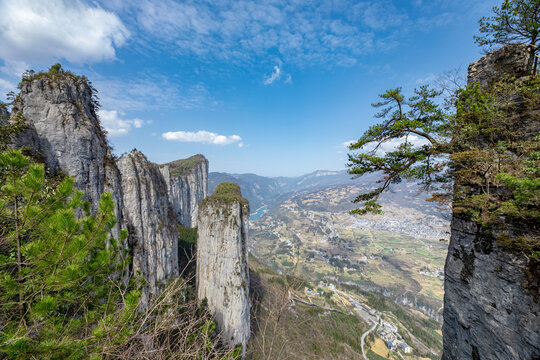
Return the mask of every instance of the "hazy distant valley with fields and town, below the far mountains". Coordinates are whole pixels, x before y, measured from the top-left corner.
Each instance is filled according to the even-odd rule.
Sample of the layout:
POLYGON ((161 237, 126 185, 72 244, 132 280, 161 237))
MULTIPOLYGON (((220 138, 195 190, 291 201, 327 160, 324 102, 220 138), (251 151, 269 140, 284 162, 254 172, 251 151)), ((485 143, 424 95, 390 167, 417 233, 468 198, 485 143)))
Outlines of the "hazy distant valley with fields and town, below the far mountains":
MULTIPOLYGON (((216 178, 210 173, 210 181, 216 178)), ((354 284, 442 322, 449 212, 426 202, 415 183, 384 193, 382 214, 359 217, 348 212, 369 177, 317 171, 297 178, 220 178, 237 179, 243 193, 268 199, 251 217, 249 249, 275 271, 294 268, 310 281, 354 284)))

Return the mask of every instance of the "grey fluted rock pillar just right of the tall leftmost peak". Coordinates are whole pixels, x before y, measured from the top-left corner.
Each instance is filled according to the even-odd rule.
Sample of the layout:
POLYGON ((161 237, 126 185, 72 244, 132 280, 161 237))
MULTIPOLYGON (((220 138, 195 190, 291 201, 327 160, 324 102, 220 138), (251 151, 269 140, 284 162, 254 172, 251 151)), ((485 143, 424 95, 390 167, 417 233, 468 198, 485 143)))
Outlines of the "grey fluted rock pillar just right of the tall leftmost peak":
POLYGON ((159 168, 136 150, 118 161, 128 244, 135 273, 144 275, 143 303, 178 275, 178 230, 159 168))

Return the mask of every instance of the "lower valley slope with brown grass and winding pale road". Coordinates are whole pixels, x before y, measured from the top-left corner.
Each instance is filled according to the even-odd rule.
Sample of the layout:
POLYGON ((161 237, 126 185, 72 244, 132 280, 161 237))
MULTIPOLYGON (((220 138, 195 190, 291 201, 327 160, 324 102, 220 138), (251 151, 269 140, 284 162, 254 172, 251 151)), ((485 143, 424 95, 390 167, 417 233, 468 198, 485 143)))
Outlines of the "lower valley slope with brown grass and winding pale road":
POLYGON ((382 295, 280 275, 253 256, 250 282, 249 359, 360 359, 361 339, 374 360, 436 359, 442 349, 440 324, 382 295))

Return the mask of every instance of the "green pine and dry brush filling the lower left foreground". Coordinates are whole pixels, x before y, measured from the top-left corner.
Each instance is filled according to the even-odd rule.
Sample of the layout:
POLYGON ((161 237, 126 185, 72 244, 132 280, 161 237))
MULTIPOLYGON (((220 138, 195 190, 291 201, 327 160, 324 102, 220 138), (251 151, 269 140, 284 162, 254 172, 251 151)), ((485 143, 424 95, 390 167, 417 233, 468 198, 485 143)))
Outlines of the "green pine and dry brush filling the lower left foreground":
POLYGON ((91 215, 73 183, 46 177, 21 151, 0 153, 0 357, 238 358, 221 347, 189 279, 139 307, 126 233, 110 236, 111 194, 91 215))

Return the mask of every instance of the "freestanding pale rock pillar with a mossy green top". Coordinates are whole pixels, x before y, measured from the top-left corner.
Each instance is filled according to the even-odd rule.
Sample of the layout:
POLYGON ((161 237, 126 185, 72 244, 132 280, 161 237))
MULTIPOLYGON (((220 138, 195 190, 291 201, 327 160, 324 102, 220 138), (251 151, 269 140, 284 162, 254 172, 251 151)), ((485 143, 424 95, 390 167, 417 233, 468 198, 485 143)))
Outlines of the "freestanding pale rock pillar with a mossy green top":
POLYGON ((248 273, 249 205, 235 183, 220 184, 200 204, 197 295, 206 299, 223 341, 241 345, 250 334, 248 273))

